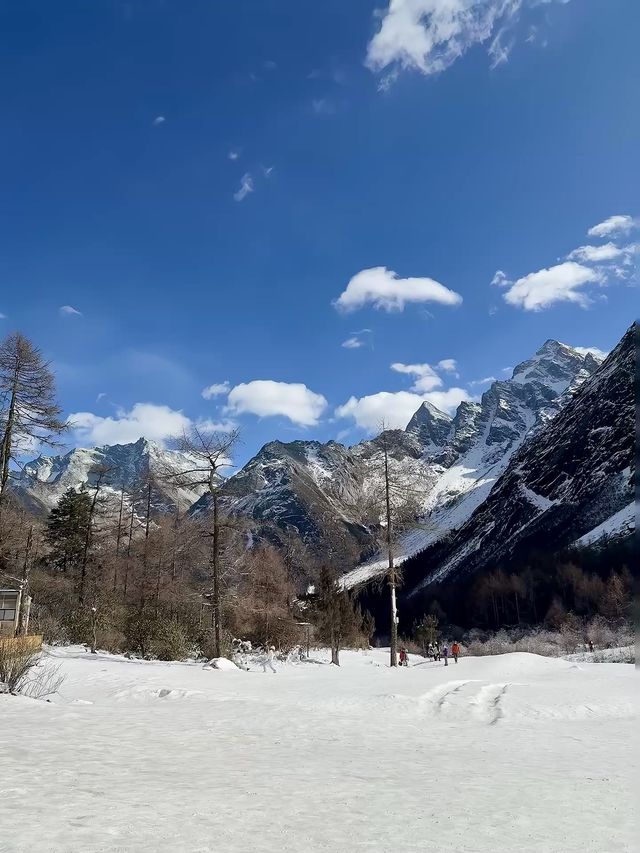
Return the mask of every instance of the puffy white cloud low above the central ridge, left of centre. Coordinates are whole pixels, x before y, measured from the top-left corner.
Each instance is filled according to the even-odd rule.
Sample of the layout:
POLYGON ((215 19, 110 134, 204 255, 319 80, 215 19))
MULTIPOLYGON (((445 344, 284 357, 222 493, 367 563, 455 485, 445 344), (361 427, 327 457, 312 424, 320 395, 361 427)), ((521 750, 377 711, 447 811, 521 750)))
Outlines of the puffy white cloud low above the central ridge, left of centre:
POLYGON ((262 418, 281 415, 300 426, 315 426, 326 407, 322 394, 314 393, 300 382, 256 379, 231 389, 227 411, 262 418))

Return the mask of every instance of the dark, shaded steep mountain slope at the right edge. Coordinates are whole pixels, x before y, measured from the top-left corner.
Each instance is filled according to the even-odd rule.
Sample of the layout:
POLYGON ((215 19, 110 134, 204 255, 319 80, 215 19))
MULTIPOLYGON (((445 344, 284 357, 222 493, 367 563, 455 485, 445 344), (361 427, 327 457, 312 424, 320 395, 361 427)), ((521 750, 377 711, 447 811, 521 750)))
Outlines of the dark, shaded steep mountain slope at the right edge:
POLYGON ((566 548, 599 525, 607 532, 608 520, 626 518, 633 502, 636 336, 634 326, 529 437, 465 524, 407 561, 403 596, 414 599, 413 609, 430 585, 508 566, 533 550, 566 548))

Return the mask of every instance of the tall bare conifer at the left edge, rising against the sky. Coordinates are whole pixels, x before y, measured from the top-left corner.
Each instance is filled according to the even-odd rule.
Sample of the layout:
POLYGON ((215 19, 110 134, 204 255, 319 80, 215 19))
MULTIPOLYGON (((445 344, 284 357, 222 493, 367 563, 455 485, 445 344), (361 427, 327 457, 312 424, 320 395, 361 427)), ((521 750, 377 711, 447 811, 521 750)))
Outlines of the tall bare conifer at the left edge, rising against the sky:
POLYGON ((42 353, 14 332, 0 343, 0 502, 11 462, 34 441, 55 445, 67 429, 55 401, 55 380, 42 353))

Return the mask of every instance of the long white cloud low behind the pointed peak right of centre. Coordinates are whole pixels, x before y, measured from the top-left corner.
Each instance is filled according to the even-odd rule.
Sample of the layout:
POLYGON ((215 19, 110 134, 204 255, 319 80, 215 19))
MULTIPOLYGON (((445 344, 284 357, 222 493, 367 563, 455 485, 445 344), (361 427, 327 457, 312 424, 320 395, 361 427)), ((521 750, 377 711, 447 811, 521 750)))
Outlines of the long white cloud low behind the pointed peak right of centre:
POLYGON ((452 413, 462 400, 470 396, 464 388, 414 394, 411 391, 380 391, 366 397, 350 397, 335 414, 339 418, 352 418, 357 426, 368 433, 379 432, 384 422, 387 429, 404 429, 425 400, 443 412, 452 413))

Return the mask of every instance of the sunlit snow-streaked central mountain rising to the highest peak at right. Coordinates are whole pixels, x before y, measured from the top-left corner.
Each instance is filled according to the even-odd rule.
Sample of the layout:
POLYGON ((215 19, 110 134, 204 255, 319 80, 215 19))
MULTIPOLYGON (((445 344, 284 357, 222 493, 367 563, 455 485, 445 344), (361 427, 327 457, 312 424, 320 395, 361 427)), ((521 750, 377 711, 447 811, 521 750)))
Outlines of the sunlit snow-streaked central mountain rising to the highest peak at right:
MULTIPOLYGON (((333 542, 345 562, 369 558, 349 575, 349 584, 359 583, 385 565, 371 558, 380 532, 379 512, 372 513, 383 492, 383 445, 396 499, 403 490, 419 497, 416 524, 398 548, 402 560, 464 524, 525 438, 598 366, 589 353, 547 341, 511 379, 494 382, 480 402, 461 403, 453 418, 425 402, 405 430, 350 448, 271 442, 227 482, 227 509, 273 541, 299 534, 320 553, 333 542)), ((206 511, 207 504, 205 496, 194 511, 206 511)))

